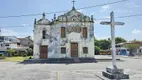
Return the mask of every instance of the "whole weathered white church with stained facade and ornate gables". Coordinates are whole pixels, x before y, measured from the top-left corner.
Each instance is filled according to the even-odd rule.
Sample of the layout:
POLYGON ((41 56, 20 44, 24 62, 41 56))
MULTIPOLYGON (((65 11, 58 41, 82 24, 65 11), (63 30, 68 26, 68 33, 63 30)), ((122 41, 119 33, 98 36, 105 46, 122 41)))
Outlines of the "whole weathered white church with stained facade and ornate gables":
MULTIPOLYGON (((74 2, 73 2, 74 4, 74 2)), ((67 13, 52 21, 42 18, 34 22, 34 58, 94 58, 94 20, 73 5, 67 13)))

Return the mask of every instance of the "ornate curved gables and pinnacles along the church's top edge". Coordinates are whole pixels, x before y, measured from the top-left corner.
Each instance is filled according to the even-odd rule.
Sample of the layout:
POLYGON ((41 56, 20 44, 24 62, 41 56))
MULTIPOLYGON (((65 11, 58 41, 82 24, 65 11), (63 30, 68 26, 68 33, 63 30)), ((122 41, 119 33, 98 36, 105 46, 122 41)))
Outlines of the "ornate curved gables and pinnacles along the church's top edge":
POLYGON ((77 11, 75 9, 75 7, 73 6, 73 8, 68 11, 67 13, 58 16, 58 18, 56 19, 56 16, 54 15, 54 19, 52 19, 52 21, 50 22, 48 19, 45 18, 45 13, 42 14, 42 19, 36 21, 34 24, 37 25, 51 25, 54 22, 94 22, 94 18, 93 15, 91 15, 91 17, 84 15, 83 13, 77 11))

